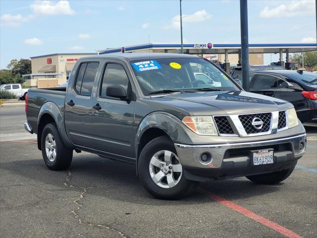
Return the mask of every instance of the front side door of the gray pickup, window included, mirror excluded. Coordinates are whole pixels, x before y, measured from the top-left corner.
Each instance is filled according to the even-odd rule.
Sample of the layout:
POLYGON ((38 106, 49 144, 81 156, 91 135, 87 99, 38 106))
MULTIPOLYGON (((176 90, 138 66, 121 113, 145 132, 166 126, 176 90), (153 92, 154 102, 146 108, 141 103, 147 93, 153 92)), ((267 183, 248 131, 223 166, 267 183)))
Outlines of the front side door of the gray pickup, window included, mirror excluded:
POLYGON ((109 157, 135 158, 134 98, 121 100, 106 96, 106 88, 122 86, 131 97, 133 83, 127 66, 120 61, 107 61, 98 83, 92 111, 93 148, 109 157))

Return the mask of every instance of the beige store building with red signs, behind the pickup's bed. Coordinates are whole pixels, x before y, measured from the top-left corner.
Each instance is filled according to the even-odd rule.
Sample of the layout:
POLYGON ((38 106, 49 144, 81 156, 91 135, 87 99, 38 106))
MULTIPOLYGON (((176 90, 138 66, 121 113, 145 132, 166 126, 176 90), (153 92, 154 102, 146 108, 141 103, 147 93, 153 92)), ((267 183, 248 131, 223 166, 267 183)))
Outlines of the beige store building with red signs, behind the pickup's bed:
POLYGON ((31 57, 32 73, 24 74, 26 86, 46 88, 56 87, 68 80, 70 72, 79 58, 96 53, 51 54, 31 57))

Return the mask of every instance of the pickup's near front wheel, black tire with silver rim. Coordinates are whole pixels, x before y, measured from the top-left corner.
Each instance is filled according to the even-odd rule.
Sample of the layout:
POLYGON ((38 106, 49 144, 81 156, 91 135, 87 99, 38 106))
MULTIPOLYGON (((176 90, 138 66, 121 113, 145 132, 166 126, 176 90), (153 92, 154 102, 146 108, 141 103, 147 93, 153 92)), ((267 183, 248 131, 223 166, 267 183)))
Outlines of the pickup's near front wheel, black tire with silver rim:
POLYGON ((184 177, 174 144, 168 136, 159 136, 146 144, 139 157, 138 171, 145 189, 159 199, 183 198, 198 184, 184 177))

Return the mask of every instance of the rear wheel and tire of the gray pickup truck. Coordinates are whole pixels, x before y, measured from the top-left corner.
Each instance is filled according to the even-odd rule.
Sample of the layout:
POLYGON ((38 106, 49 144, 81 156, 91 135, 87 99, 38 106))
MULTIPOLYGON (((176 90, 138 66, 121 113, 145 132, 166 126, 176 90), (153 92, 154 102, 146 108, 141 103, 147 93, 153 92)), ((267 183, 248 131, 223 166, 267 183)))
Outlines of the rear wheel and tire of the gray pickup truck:
POLYGON ((70 166, 73 150, 64 145, 55 123, 44 127, 41 147, 44 162, 50 170, 66 170, 70 166))

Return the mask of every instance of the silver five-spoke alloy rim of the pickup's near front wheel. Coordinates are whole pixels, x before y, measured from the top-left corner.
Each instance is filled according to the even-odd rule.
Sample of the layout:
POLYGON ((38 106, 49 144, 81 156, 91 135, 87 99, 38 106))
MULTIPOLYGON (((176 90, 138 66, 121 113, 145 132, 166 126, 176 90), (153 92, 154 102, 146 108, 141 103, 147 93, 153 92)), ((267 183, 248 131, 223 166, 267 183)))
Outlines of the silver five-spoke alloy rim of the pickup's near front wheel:
POLYGON ((183 173, 178 157, 171 151, 161 150, 150 160, 150 176, 162 188, 172 188, 180 181, 183 173))

